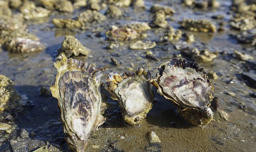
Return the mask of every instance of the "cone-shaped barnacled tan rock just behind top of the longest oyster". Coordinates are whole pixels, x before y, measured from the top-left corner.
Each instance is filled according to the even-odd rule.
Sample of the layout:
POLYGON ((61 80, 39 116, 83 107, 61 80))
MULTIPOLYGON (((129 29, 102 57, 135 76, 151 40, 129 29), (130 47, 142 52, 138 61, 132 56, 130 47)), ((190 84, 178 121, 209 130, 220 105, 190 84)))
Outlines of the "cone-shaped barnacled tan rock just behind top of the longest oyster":
MULTIPOLYGON (((81 42, 78 39, 76 39, 76 37, 67 35, 63 40, 62 46, 58 50, 58 52, 59 53, 64 52, 65 55, 69 58, 72 55, 78 56, 80 54, 88 56, 91 50, 83 46, 83 44, 81 44, 81 42)), ((57 58, 60 58, 60 56, 58 56, 57 58)))

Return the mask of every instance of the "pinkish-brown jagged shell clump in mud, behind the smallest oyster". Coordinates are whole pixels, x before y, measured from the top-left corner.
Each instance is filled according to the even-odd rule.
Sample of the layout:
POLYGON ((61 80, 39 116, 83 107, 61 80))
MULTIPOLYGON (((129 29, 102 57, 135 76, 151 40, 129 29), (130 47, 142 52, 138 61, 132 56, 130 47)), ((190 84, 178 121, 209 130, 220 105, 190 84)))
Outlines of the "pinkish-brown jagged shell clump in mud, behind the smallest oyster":
POLYGON ((150 29, 149 24, 146 22, 131 22, 119 27, 113 25, 106 32, 106 36, 109 40, 132 40, 137 39, 142 35, 142 32, 150 29))

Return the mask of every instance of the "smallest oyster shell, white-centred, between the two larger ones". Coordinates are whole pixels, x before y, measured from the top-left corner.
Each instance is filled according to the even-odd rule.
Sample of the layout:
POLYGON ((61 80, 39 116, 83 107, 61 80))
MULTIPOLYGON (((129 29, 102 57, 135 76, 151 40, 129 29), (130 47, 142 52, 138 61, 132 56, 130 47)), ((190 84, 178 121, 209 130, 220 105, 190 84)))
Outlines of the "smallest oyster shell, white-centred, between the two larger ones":
POLYGON ((109 73, 107 90, 119 101, 123 119, 131 125, 141 124, 152 108, 154 94, 149 79, 151 74, 142 68, 135 73, 109 73))

